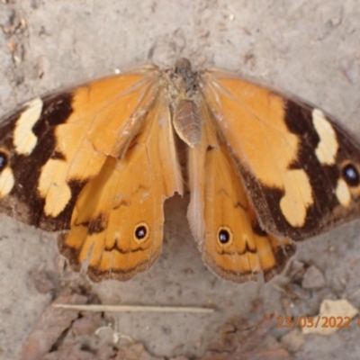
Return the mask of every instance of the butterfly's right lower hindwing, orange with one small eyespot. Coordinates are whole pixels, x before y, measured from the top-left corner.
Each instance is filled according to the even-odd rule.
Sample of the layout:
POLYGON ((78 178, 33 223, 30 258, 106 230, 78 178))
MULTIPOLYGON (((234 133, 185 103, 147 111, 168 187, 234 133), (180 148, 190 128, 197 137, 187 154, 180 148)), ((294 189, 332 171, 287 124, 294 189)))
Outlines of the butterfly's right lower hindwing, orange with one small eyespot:
POLYGON ((188 219, 202 259, 221 277, 241 283, 280 273, 295 245, 260 228, 229 148, 205 103, 199 147, 189 148, 188 219))

